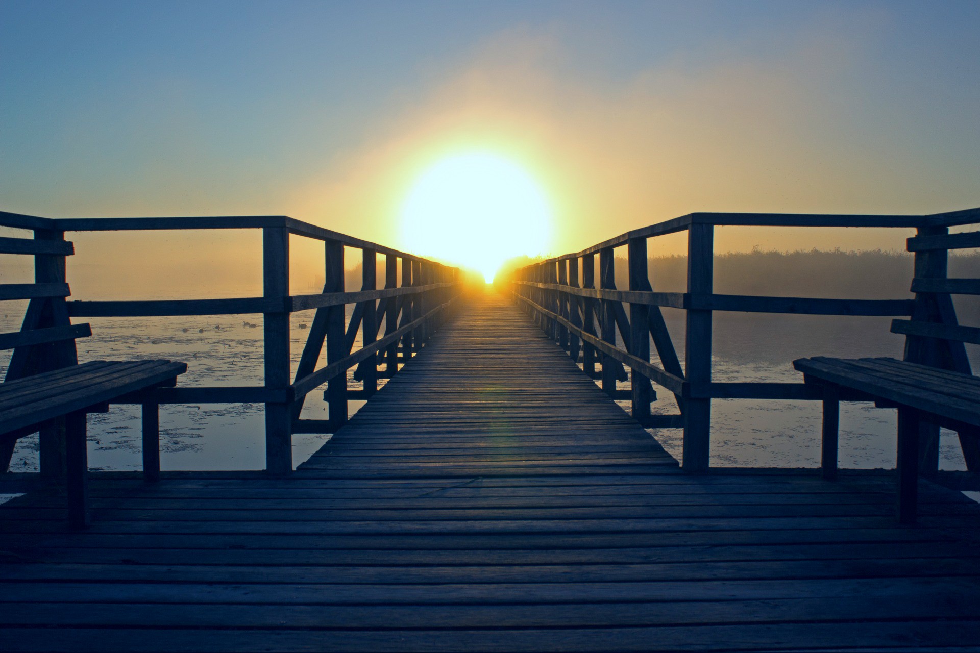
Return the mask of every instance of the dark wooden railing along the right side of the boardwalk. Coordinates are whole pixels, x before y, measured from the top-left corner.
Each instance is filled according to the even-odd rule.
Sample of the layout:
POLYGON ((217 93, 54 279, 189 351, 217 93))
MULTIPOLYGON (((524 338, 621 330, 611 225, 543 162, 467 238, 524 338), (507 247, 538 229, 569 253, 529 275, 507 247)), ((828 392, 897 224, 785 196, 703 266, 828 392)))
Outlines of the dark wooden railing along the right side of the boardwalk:
POLYGON ((514 273, 512 293, 515 302, 545 333, 567 350, 572 360, 583 364, 586 374, 602 379, 602 387, 610 396, 624 398, 624 392, 628 393, 632 414, 641 424, 683 428, 683 467, 698 472, 709 467, 712 398, 822 398, 818 389, 803 383, 712 381, 712 311, 929 315, 934 321, 952 327, 956 325, 956 312, 948 293, 963 292, 962 287, 966 286, 980 288, 980 280, 946 279, 946 250, 939 246, 945 246, 942 239, 955 237, 957 246, 980 247, 978 235, 948 235, 950 227, 977 223, 980 223, 980 209, 932 215, 691 213, 621 234, 575 254, 522 267, 514 273), (715 226, 914 228, 917 237, 909 239, 908 249, 915 255, 916 279, 911 288, 915 299, 836 300, 715 294, 712 279, 715 226), (678 232, 688 235, 687 291, 655 292, 648 275, 647 240, 678 232), (628 290, 616 287, 613 253, 621 247, 626 249, 628 290), (598 280, 596 255, 599 256, 598 280), (926 277, 928 280, 924 280, 926 277), (923 284, 931 285, 925 288, 923 284), (937 300, 936 293, 945 294, 945 300, 937 300), (932 307, 937 302, 942 310, 932 307), (623 304, 628 304, 628 314, 623 304), (663 320, 662 306, 685 311, 683 366, 663 320), (651 342, 660 356, 660 366, 650 361, 651 342), (624 368, 630 369, 628 377, 624 368), (631 382, 630 390, 617 391, 616 381, 627 378, 631 382), (656 400, 651 382, 674 396, 677 413, 651 414, 651 402, 656 400))

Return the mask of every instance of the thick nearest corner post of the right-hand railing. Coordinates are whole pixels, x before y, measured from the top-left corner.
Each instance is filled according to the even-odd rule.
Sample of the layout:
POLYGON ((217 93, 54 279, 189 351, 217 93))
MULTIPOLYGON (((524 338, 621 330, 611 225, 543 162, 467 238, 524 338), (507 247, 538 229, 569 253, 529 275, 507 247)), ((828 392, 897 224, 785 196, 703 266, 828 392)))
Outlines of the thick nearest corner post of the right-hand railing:
MULTIPOLYGON (((694 223, 688 228, 687 292, 710 295, 713 288, 714 225, 694 223)), ((704 393, 711 383, 711 310, 687 310, 685 377, 688 387, 704 393)), ((684 447, 686 472, 709 467, 711 451, 711 398, 684 399, 684 447)))

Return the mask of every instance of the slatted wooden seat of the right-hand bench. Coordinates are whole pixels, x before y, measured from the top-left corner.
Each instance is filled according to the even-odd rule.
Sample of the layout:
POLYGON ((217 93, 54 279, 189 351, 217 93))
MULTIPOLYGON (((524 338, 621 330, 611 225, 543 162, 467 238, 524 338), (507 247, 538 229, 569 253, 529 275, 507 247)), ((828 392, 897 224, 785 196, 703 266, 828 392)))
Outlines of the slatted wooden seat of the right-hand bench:
MULTIPOLYGON (((922 376, 914 363, 904 363, 907 374, 903 375, 891 364, 873 364, 874 358, 859 359, 871 365, 858 365, 858 359, 813 357, 793 361, 793 366, 809 376, 845 388, 854 388, 873 396, 901 403, 928 413, 943 415, 957 421, 980 426, 980 404, 956 396, 962 389, 978 387, 974 377, 951 372, 942 384, 943 391, 926 390, 917 382, 922 376), (959 385, 961 384, 961 385, 959 385)), ((893 362, 900 361, 892 359, 893 362)))

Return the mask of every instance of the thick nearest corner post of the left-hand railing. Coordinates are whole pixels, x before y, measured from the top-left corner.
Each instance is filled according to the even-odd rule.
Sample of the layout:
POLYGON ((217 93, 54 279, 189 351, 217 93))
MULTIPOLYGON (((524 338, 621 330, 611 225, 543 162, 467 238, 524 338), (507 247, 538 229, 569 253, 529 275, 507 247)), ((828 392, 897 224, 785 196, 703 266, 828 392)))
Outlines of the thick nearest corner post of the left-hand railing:
MULTIPOLYGON (((277 310, 264 315, 266 390, 289 390, 289 231, 262 230, 263 294, 277 310)), ((293 470, 292 411, 287 401, 266 402, 266 471, 282 476, 293 470)))

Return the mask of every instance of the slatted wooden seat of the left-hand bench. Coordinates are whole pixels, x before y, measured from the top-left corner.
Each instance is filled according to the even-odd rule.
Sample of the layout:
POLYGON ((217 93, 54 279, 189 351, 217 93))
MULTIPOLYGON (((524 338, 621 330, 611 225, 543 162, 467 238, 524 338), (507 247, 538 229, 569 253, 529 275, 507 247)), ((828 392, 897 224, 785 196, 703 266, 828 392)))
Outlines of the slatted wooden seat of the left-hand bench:
MULTIPOLYGON (((150 388, 169 381, 187 370, 186 363, 170 360, 138 362, 147 364, 133 368, 127 363, 115 363, 113 367, 118 373, 106 375, 95 383, 86 379, 89 375, 79 375, 74 377, 77 381, 75 384, 63 386, 56 396, 45 396, 29 403, 0 409, 0 432, 39 424, 56 415, 81 410, 96 403, 110 401, 125 393, 150 388)), ((30 378, 43 383, 44 376, 38 374, 30 378)))

